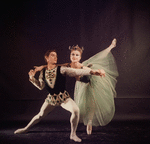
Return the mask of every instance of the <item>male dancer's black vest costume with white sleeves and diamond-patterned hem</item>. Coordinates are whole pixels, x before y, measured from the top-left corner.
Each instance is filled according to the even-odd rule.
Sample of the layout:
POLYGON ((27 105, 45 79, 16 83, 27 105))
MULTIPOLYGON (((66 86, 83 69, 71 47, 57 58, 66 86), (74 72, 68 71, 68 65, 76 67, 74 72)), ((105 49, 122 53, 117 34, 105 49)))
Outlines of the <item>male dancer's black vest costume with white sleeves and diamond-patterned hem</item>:
POLYGON ((73 69, 64 66, 58 66, 51 70, 44 68, 40 72, 39 80, 33 77, 30 79, 30 82, 32 82, 40 90, 46 87, 49 92, 47 98, 45 99, 46 102, 53 106, 59 106, 70 97, 65 86, 66 75, 70 77, 90 75, 90 70, 73 69))

